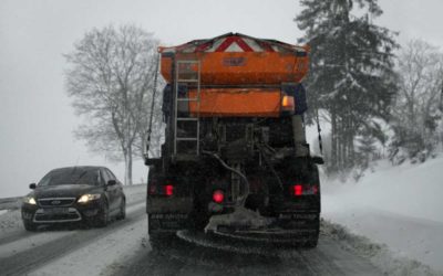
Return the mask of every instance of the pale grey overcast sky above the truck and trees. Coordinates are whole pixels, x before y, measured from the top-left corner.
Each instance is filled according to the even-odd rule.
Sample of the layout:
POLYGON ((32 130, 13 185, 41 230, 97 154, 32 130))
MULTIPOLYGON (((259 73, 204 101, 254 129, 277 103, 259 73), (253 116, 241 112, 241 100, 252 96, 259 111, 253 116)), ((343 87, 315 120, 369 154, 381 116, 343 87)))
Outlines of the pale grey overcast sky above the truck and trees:
MULTIPOLYGON (((443 0, 381 0, 375 22, 399 41, 443 46, 443 0)), ((73 138, 81 119, 63 86, 63 53, 92 28, 134 23, 165 45, 227 32, 296 43, 297 0, 0 0, 0 198, 23 195, 53 168, 104 164, 123 180, 123 164, 87 152, 73 138)), ((143 161, 134 182, 146 179, 143 161)))

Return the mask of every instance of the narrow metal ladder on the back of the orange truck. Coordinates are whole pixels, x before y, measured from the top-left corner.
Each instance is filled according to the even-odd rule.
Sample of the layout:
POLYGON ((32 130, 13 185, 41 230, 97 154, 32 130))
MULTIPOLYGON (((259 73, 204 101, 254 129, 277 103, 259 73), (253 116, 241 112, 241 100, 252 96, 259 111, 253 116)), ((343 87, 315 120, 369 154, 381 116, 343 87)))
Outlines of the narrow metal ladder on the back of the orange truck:
POLYGON ((176 160, 194 160, 199 155, 199 105, 200 105, 200 62, 177 61, 175 64, 174 103, 174 157, 176 160), (195 87, 195 97, 187 92, 181 95, 181 85, 195 87), (196 103, 196 114, 190 113, 190 102, 196 103), (187 112, 186 112, 187 109, 187 112), (182 127, 182 128, 181 128, 182 127), (184 128, 184 129, 183 129, 184 128), (179 132, 182 129, 182 132, 179 132), (189 146, 193 145, 194 147, 189 146))

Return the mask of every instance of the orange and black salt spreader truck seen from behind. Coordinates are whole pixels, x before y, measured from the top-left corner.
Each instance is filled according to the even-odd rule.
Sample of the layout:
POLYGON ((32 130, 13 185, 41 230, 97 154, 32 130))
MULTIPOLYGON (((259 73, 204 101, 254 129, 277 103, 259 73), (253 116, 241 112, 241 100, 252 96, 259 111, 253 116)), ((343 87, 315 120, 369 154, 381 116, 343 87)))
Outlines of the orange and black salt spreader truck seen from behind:
POLYGON ((158 52, 166 130, 161 158, 145 156, 152 244, 198 232, 316 246, 322 159, 302 120, 309 49, 228 33, 158 52))

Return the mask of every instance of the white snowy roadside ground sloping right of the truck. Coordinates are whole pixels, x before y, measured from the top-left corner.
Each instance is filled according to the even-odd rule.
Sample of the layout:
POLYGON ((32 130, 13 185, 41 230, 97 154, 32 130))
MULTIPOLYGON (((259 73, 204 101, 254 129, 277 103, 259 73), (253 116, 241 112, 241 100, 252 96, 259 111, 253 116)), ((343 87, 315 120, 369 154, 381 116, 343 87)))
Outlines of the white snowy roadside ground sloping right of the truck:
POLYGON ((357 183, 323 180, 322 215, 443 273, 442 180, 443 157, 399 167, 380 161, 357 183))

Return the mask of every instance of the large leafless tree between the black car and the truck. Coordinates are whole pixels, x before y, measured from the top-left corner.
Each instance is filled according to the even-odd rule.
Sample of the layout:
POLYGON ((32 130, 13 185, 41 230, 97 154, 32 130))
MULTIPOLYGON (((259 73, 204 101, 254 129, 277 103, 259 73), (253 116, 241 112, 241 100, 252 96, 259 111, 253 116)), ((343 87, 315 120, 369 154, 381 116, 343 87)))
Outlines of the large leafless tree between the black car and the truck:
POLYGON ((68 93, 76 113, 87 118, 75 135, 92 150, 123 159, 126 184, 151 108, 157 44, 137 26, 109 25, 87 32, 65 55, 68 93))

